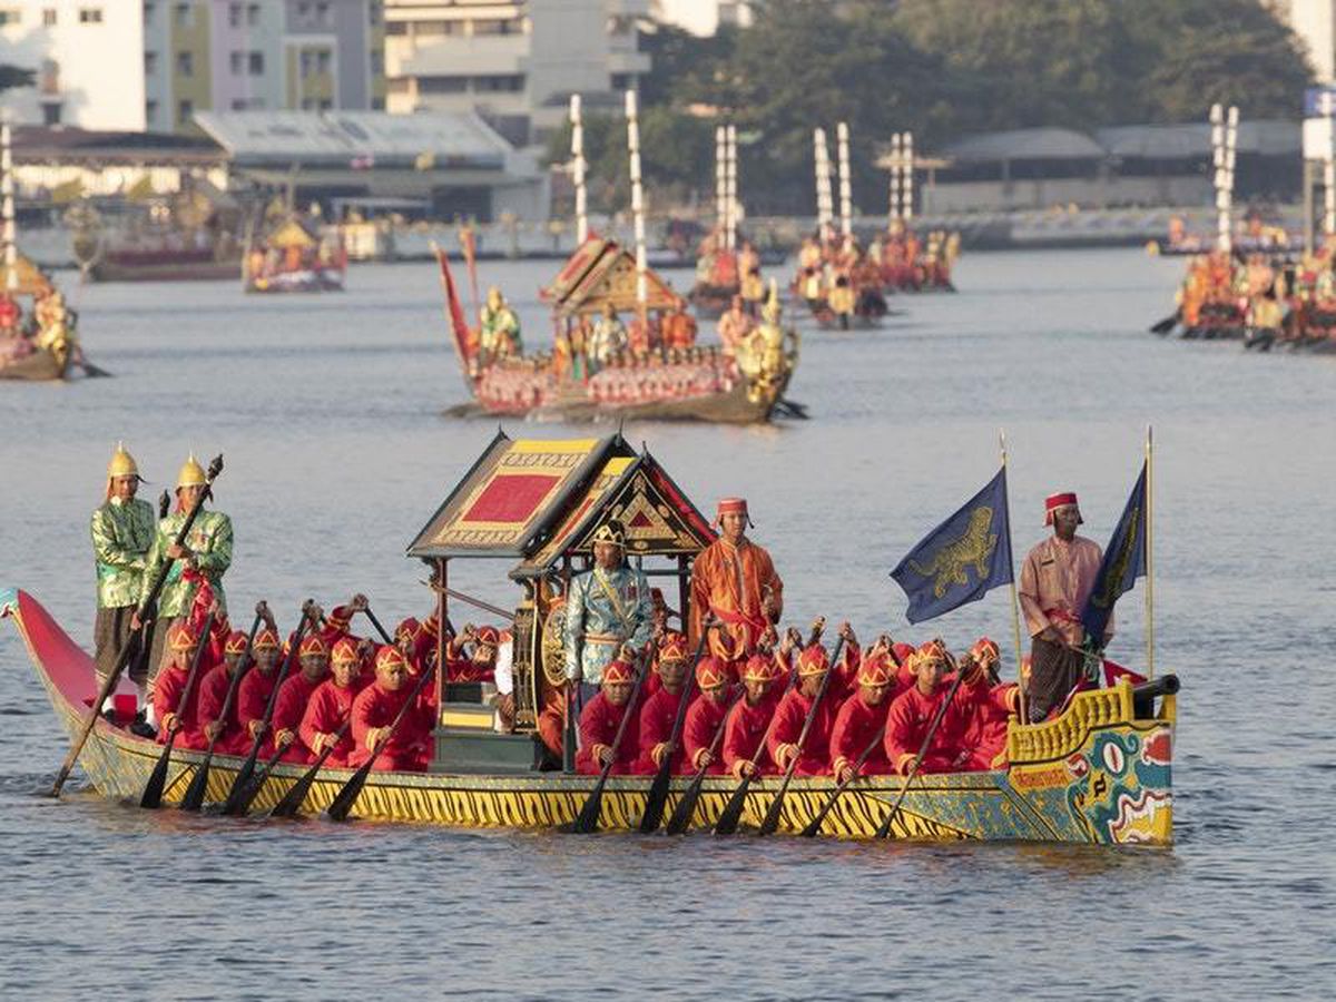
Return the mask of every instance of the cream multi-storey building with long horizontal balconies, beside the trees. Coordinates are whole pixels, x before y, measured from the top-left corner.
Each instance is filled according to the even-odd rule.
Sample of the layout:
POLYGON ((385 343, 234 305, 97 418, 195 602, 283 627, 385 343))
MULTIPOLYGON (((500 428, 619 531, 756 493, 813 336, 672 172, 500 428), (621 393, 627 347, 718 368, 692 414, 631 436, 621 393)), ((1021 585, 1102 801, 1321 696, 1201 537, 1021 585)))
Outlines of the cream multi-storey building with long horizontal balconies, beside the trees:
POLYGON ((509 139, 541 142, 572 94, 620 107, 649 71, 649 0, 386 0, 386 107, 478 111, 509 139))

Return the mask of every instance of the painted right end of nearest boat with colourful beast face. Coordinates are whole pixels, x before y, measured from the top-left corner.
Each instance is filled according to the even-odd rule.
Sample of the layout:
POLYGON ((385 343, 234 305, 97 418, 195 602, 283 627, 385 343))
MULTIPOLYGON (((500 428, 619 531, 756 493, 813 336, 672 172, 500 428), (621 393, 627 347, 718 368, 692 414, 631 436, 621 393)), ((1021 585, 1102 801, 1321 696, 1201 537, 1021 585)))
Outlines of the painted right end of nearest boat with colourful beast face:
POLYGON ((1173 844, 1170 766, 1174 693, 1169 675, 1077 693, 1057 720, 1013 724, 1013 791, 1062 840, 1173 844), (1156 712, 1156 697, 1161 699, 1156 712))

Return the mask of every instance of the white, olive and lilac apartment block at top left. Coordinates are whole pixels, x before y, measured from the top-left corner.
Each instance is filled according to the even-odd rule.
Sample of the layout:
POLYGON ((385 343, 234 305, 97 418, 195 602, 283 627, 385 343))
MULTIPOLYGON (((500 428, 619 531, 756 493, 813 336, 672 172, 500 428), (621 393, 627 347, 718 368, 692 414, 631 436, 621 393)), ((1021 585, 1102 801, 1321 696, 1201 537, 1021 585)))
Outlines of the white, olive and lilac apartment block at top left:
POLYGON ((20 120, 194 131, 198 111, 385 107, 382 0, 0 0, 20 120))

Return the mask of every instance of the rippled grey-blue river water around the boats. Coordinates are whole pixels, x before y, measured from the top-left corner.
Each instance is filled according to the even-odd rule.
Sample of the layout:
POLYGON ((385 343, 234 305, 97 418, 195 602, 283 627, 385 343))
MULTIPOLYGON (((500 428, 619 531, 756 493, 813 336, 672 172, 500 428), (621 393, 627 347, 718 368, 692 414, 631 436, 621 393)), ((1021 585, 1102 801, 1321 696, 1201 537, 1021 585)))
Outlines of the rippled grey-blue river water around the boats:
MULTIPOLYGON (((530 341, 553 271, 484 270, 530 341)), ((226 454, 235 608, 267 597, 291 624, 305 596, 361 589, 382 620, 425 612, 403 548, 494 430, 440 415, 465 394, 433 273, 363 266, 323 298, 71 287, 116 378, 0 385, 0 585, 91 645, 87 520, 124 438, 148 496, 187 450, 226 454)), ((1054 490, 1102 544, 1153 424, 1156 667, 1184 684, 1172 851, 277 826, 79 784, 52 802, 65 740, 3 627, 0 993, 1329 998, 1336 359, 1148 335, 1177 278, 1124 250, 967 257, 959 295, 900 297, 880 331, 803 329, 790 395, 812 420, 625 429, 703 509, 751 500, 786 620, 987 632, 1013 673, 1005 591, 910 629, 887 572, 993 476, 999 429, 1018 558, 1054 490)), ((504 569, 452 584, 508 605, 504 569)), ((1134 667, 1142 597, 1110 651, 1134 667)))

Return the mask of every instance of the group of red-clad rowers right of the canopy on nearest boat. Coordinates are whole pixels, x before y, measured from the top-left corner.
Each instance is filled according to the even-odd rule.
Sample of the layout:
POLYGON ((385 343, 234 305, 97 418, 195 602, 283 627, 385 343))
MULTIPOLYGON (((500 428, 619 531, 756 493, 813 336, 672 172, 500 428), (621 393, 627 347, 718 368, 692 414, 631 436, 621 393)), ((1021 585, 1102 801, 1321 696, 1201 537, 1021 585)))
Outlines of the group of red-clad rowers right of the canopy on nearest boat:
MULTIPOLYGON (((733 677, 725 661, 700 659, 696 695, 681 740, 675 743, 673 723, 691 691, 689 657, 687 639, 665 633, 656 645, 653 673, 643 685, 635 684, 628 660, 619 659, 604 669, 600 692, 580 715, 577 771, 597 774, 611 763, 619 775, 649 775, 671 755, 673 775, 704 770, 740 779, 778 775, 791 763, 795 775, 834 775, 840 782, 855 774, 907 772, 949 699, 953 659, 938 641, 915 649, 884 636, 862 651, 847 623, 840 637, 842 652, 834 665, 824 645, 803 647, 794 629, 778 647, 763 644, 741 663, 740 677, 733 677), (808 716, 812 723, 804 736, 808 716), (884 739, 876 741, 883 728, 884 739)), ((998 659, 998 647, 987 637, 961 659, 961 685, 921 772, 1005 767, 1007 716, 1017 712, 1018 689, 997 681, 998 659)), ((544 740, 550 747, 550 735, 544 740)))

